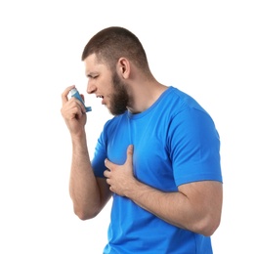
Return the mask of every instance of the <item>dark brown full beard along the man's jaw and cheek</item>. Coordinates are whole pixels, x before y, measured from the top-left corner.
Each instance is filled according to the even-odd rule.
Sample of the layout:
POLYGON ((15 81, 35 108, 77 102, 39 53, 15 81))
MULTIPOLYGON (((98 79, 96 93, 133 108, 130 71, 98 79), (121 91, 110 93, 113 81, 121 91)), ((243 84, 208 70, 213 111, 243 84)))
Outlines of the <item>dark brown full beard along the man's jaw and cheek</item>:
POLYGON ((110 98, 109 112, 113 115, 119 115, 127 110, 130 98, 127 92, 127 86, 116 72, 112 74, 112 85, 114 93, 110 98))

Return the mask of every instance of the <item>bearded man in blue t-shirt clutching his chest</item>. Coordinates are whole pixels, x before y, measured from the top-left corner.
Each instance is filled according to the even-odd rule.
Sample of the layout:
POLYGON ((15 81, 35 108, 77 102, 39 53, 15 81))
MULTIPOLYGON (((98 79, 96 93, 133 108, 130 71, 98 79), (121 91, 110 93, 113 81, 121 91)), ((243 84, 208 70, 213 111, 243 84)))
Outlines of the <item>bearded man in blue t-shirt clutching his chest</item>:
POLYGON ((62 95, 72 142, 70 196, 81 220, 112 197, 104 253, 212 253, 220 225, 220 140, 189 95, 157 82, 139 39, 123 27, 94 35, 82 54, 87 93, 114 115, 88 154, 86 112, 62 95))

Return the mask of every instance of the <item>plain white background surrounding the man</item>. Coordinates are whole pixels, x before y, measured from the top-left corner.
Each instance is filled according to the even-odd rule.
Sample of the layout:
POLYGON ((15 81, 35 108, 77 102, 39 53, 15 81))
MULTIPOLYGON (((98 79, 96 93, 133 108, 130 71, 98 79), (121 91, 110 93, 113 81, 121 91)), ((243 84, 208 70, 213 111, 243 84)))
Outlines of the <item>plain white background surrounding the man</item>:
MULTIPOLYGON (((256 253, 254 2, 1 0, 0 253, 102 253, 109 205, 90 221, 73 214, 60 110, 66 86, 86 93, 83 47, 110 25, 137 34, 158 81, 212 115, 224 178, 214 253, 256 253)), ((94 96, 86 102, 92 154, 110 115, 94 96)))

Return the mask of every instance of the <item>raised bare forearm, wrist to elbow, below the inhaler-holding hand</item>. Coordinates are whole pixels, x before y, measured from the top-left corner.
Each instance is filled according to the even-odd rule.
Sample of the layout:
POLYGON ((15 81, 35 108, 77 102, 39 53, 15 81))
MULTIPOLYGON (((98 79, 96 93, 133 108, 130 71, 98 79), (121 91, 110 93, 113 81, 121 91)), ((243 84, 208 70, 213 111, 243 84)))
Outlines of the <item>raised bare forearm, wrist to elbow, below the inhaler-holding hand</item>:
POLYGON ((74 212, 80 219, 90 219, 99 212, 100 191, 92 170, 85 133, 72 138, 69 192, 74 212))

